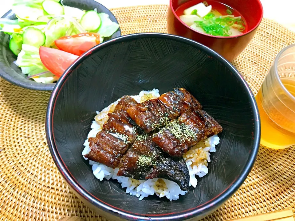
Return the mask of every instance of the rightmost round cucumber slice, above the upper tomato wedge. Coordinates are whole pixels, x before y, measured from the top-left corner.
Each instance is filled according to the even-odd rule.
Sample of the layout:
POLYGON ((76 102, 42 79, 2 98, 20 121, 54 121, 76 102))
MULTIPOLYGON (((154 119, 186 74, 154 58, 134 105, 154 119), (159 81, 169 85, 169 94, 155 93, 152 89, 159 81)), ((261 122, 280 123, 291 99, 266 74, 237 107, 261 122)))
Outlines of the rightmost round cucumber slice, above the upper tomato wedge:
POLYGON ((82 17, 80 24, 87 31, 94 31, 99 29, 101 20, 96 11, 88 11, 82 17))

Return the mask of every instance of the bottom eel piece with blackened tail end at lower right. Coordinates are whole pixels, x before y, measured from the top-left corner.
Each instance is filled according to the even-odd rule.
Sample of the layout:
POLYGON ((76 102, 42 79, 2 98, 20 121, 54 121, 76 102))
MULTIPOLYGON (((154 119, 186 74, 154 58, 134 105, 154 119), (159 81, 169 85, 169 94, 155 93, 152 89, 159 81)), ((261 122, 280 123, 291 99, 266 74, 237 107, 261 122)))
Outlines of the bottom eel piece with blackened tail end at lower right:
POLYGON ((118 176, 137 180, 164 178, 177 183, 182 190, 189 187, 189 172, 184 159, 163 153, 151 136, 139 135, 119 164, 118 176))

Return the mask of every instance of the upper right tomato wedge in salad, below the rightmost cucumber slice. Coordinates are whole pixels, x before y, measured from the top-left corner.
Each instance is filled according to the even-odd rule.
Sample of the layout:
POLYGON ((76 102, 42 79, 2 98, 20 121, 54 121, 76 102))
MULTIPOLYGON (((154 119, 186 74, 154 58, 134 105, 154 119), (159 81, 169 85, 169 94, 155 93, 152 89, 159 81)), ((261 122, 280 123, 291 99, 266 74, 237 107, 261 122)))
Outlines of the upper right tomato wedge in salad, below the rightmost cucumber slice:
POLYGON ((61 37, 54 41, 57 48, 62 51, 69 52, 80 56, 85 51, 93 48, 100 43, 99 34, 96 33, 81 33, 72 36, 61 37))

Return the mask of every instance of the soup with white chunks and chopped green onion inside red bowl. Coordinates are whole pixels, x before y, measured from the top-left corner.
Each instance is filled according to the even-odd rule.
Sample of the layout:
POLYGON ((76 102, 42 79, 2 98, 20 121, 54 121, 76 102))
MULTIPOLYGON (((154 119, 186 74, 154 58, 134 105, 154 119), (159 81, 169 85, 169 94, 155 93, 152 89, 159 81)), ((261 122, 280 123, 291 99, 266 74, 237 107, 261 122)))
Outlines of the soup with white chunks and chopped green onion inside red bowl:
POLYGON ((221 2, 189 1, 175 12, 186 25, 205 34, 229 37, 248 31, 242 15, 221 2))

